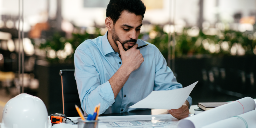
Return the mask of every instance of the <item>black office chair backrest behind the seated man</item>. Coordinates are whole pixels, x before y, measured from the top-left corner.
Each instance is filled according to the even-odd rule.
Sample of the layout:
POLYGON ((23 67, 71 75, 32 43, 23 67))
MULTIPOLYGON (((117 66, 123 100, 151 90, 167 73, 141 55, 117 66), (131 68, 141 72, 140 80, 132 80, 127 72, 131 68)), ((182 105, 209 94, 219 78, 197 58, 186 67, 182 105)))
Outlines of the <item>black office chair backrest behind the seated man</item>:
POLYGON ((75 70, 60 70, 63 114, 67 117, 79 116, 75 104, 81 108, 74 73, 75 70))

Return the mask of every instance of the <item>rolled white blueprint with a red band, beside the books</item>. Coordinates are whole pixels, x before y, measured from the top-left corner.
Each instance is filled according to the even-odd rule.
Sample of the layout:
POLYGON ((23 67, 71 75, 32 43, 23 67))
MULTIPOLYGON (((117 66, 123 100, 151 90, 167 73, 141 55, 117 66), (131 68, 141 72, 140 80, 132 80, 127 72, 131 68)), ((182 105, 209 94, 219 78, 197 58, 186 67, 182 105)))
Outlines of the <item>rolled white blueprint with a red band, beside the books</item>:
POLYGON ((255 109, 255 101, 245 97, 179 121, 178 128, 200 128, 255 109))

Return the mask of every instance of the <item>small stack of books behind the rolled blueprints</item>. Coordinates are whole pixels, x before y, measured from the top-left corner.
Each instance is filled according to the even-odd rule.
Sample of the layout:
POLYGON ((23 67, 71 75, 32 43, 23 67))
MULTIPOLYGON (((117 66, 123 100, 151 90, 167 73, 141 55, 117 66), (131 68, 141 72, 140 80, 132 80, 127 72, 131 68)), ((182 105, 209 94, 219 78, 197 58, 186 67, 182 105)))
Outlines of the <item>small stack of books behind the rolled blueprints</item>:
POLYGON ((227 104, 227 102, 205 102, 205 103, 197 103, 197 106, 199 108, 195 109, 195 113, 194 114, 199 114, 201 112, 210 110, 212 108, 221 106, 227 104))

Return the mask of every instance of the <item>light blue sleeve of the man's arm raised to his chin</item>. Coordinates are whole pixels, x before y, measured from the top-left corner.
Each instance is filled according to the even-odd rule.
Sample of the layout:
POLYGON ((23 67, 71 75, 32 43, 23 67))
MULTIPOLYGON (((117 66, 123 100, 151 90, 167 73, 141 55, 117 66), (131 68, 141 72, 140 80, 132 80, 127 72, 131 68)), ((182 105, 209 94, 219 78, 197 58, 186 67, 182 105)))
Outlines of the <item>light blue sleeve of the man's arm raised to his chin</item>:
POLYGON ((76 49, 74 63, 75 79, 82 109, 87 114, 93 114, 95 106, 100 103, 99 114, 102 114, 115 102, 109 81, 100 83, 100 76, 89 50, 76 49))

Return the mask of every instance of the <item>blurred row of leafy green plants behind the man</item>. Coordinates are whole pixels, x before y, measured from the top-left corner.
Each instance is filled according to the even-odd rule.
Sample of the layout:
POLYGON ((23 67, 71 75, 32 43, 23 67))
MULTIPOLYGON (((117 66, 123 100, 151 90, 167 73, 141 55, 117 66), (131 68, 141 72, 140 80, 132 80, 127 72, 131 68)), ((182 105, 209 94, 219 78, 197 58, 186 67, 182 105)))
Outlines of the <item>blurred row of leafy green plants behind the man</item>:
MULTIPOLYGON (((182 33, 175 33, 176 57, 204 54, 254 55, 253 50, 256 51, 256 33, 226 30, 217 31, 215 35, 207 35, 200 30, 197 36, 190 36, 188 34, 190 29, 184 28, 182 33), (238 52, 239 48, 240 52, 238 52)), ((73 63, 75 49, 85 40, 94 39, 98 36, 102 36, 99 28, 96 28, 95 34, 88 34, 86 32, 73 33, 70 39, 66 39, 65 37, 61 37, 60 34, 55 33, 52 37, 48 37, 45 43, 41 43, 40 49, 47 51, 46 58, 50 63, 73 63), (67 43, 71 44, 72 52, 64 57, 58 56, 58 53, 64 54, 65 51, 63 50, 65 50, 67 43), (55 52, 56 56, 49 56, 50 52, 55 52)), ((154 44, 163 56, 167 58, 168 34, 163 31, 163 26, 155 25, 150 32, 141 33, 139 39, 154 44)))

